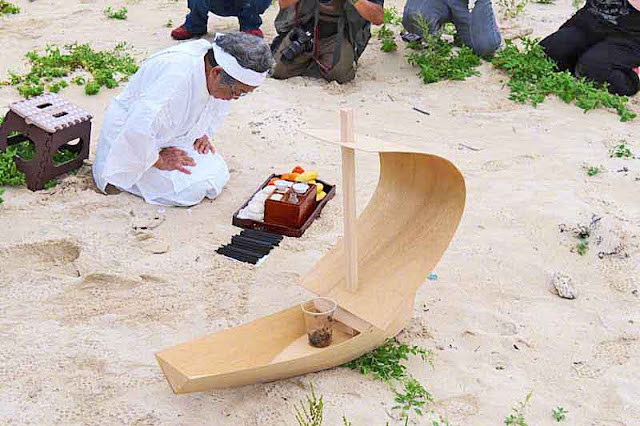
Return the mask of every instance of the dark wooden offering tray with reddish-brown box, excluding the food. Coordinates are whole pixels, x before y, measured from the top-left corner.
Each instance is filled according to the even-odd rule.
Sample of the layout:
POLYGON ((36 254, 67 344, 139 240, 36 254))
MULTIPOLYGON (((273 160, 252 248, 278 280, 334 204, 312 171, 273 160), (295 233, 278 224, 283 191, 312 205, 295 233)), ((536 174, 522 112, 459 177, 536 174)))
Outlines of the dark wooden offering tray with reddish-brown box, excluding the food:
POLYGON ((324 185, 324 191, 327 193, 326 197, 321 201, 316 201, 316 187, 315 185, 310 185, 309 190, 305 194, 298 195, 299 202, 297 204, 288 203, 284 200, 275 201, 268 199, 265 203, 265 221, 239 218, 238 213, 240 210, 247 207, 251 198, 276 177, 277 175, 273 174, 260 185, 242 207, 235 212, 232 223, 240 228, 257 229, 259 231, 286 235, 288 237, 301 237, 313 221, 320 216, 324 206, 336 195, 336 187, 335 185, 330 185, 320 179, 316 179, 317 182, 324 185))

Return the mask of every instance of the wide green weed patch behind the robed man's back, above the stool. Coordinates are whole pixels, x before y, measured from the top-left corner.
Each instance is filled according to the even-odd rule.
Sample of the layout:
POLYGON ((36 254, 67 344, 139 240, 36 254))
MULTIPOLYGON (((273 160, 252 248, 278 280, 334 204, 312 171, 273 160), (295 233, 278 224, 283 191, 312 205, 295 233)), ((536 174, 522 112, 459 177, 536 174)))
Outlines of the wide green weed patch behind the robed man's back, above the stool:
MULTIPOLYGON (((135 60, 127 53, 126 43, 119 43, 112 50, 94 51, 89 44, 70 44, 63 48, 47 46, 44 54, 31 51, 26 57, 31 65, 28 73, 9 73, 3 84, 17 86, 25 98, 41 95, 46 90, 55 91, 67 86, 64 78, 75 71, 86 71, 92 79, 85 85, 85 93, 96 94, 101 87, 114 88, 138 70, 135 60), (64 81, 64 83, 62 82, 64 81), (45 86, 46 85, 46 86, 45 86)), ((75 77, 80 84, 83 77, 75 77)))

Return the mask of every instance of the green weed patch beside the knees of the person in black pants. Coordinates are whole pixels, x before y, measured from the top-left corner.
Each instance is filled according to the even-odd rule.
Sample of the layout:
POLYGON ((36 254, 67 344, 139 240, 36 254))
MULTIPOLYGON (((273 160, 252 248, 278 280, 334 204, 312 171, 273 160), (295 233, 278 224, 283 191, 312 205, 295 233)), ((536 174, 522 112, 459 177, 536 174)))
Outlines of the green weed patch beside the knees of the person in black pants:
POLYGON ((596 108, 617 111, 621 121, 636 118, 627 106, 629 98, 609 93, 606 87, 598 88, 584 78, 576 79, 569 72, 559 72, 553 60, 548 58, 537 39, 522 39, 520 50, 512 41, 497 52, 493 65, 506 72, 511 89, 510 99, 536 106, 553 94, 567 103, 574 102, 585 112, 596 108))

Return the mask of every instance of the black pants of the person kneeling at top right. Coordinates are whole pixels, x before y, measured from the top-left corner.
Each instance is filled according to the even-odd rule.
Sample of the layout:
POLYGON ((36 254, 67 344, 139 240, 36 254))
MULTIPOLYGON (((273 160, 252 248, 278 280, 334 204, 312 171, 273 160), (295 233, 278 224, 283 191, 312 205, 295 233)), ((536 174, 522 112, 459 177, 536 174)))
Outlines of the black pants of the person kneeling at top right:
POLYGON ((600 20, 582 9, 540 43, 561 71, 569 70, 598 83, 611 93, 633 96, 640 79, 640 36, 600 20))

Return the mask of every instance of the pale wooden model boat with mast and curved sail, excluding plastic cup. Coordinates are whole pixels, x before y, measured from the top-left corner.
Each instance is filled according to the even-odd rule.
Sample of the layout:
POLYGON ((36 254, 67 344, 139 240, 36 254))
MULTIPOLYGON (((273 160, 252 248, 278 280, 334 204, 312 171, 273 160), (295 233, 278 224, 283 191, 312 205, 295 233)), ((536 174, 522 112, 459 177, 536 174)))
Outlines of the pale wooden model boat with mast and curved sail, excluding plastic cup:
MULTIPOLYGON (((333 342, 307 342, 299 306, 183 343, 156 354, 175 393, 243 386, 320 371, 351 361, 399 333, 411 319, 418 288, 458 227, 465 184, 444 158, 368 137, 354 141, 343 111, 345 237, 302 285, 338 302, 333 342), (354 149, 377 152, 380 179, 355 217, 354 149)), ((307 134, 336 142, 331 131, 307 134)))

